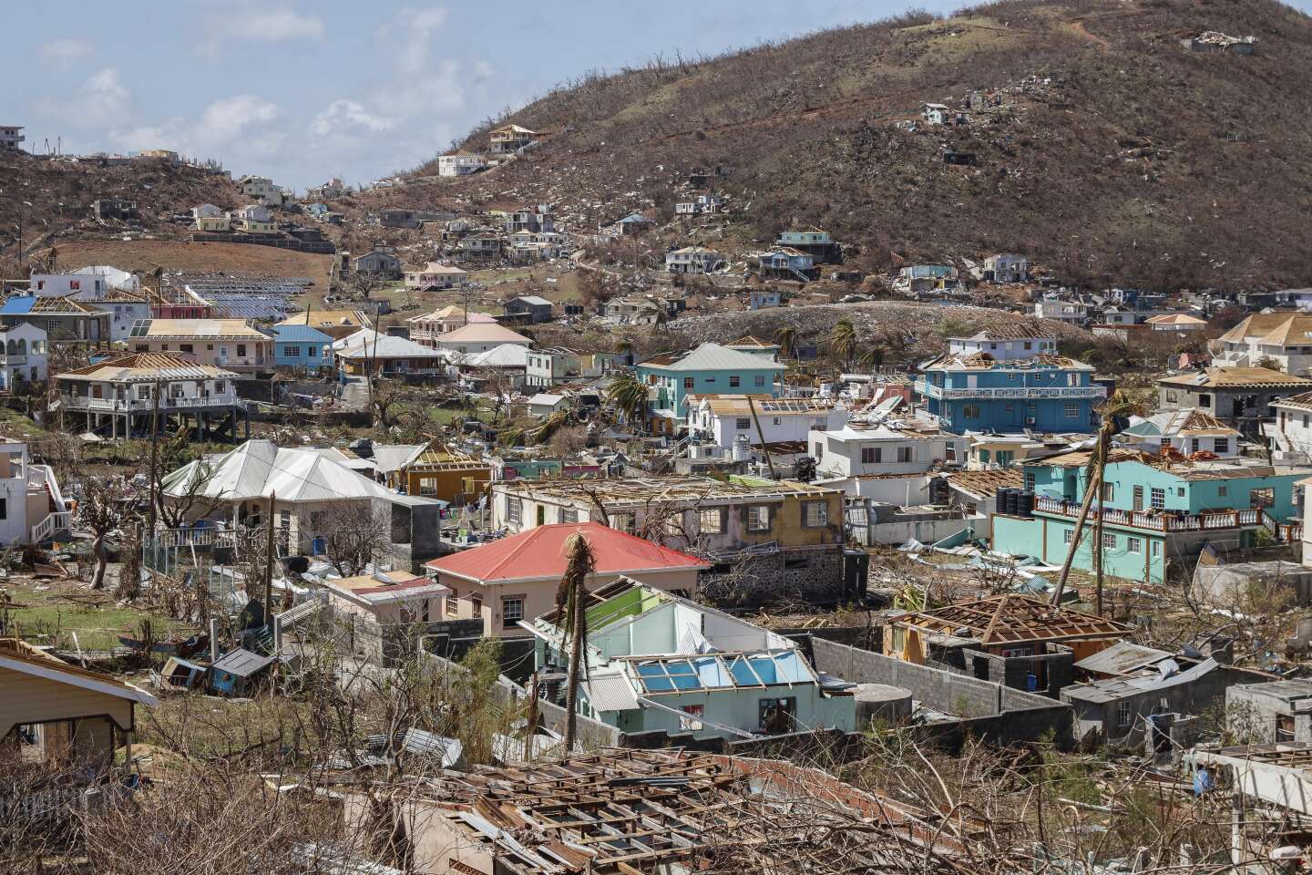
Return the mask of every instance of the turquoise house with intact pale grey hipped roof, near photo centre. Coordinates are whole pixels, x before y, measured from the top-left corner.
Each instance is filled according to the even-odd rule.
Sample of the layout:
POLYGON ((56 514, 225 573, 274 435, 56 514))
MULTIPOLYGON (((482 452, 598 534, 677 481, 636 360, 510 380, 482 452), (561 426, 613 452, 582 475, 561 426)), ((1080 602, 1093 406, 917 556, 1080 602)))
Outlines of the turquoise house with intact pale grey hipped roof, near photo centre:
POLYGON ((719 344, 687 353, 661 353, 636 366, 648 390, 652 430, 672 434, 687 415, 687 395, 770 395, 783 391, 785 367, 773 358, 719 344))

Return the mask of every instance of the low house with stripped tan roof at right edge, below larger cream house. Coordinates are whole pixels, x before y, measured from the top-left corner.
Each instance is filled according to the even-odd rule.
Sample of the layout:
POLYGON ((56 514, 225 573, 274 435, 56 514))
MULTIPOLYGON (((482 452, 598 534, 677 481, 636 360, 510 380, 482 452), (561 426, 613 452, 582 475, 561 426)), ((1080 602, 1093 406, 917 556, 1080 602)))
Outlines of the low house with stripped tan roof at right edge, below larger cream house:
POLYGON ((1157 380, 1158 409, 1198 408, 1245 437, 1258 437, 1262 424, 1274 420, 1274 401, 1308 391, 1312 379, 1265 367, 1208 367, 1157 380))

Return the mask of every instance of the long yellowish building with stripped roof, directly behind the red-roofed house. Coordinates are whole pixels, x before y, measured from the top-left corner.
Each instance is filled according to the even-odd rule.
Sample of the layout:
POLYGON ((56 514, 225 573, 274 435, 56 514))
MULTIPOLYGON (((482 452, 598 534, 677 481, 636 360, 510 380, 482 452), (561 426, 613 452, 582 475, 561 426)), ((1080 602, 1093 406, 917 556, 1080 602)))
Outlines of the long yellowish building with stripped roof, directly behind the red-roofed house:
POLYGON ((840 594, 844 496, 792 480, 643 476, 493 483, 492 527, 512 533, 554 522, 602 522, 712 563, 728 573, 750 556, 744 601, 782 592, 840 594))

